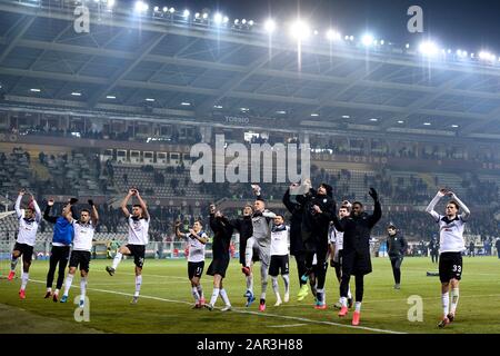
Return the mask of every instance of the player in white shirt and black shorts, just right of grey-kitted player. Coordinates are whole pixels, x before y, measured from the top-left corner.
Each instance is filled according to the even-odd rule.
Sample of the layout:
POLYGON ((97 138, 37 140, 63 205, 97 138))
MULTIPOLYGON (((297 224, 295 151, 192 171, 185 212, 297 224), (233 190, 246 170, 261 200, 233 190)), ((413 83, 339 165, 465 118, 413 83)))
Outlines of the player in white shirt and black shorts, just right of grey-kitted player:
POLYGON ((288 238, 290 236, 290 228, 284 225, 284 218, 282 215, 277 215, 274 218, 274 225, 271 229, 271 264, 269 266, 269 276, 272 280, 272 290, 276 295, 276 304, 278 307, 281 305, 280 288, 278 285, 278 275, 281 273, 281 277, 284 283, 284 303, 290 300, 290 276, 289 276, 289 258, 288 258, 288 238))

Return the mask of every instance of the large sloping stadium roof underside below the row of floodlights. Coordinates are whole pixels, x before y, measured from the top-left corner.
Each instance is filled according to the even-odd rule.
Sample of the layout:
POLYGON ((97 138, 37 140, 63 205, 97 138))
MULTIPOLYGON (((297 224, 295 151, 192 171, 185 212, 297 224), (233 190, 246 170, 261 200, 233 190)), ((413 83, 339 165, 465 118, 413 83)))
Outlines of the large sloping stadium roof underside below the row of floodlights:
POLYGON ((314 40, 303 42, 299 56, 287 33, 276 33, 270 47, 257 30, 93 8, 90 32, 77 33, 69 2, 0 2, 4 105, 500 135, 492 125, 500 118, 498 63, 423 59, 389 43, 368 50, 314 40))

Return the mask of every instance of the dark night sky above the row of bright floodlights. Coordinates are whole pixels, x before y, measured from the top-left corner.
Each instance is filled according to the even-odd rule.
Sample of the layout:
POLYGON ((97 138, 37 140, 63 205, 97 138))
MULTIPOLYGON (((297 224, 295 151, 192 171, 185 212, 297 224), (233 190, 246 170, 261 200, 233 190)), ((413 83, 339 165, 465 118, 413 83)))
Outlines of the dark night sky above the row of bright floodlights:
MULTIPOLYGON (((127 0, 134 2, 133 0, 127 0)), ((124 0, 118 0, 124 2, 124 0)), ((271 14, 278 21, 297 17, 308 19, 312 28, 327 29, 330 23, 343 34, 359 37, 370 30, 374 38, 396 43, 417 42, 421 34, 407 31, 407 10, 412 4, 423 9, 426 36, 442 47, 472 51, 500 52, 500 1, 498 0, 148 0, 151 7, 219 9, 233 18, 263 21, 271 14)))

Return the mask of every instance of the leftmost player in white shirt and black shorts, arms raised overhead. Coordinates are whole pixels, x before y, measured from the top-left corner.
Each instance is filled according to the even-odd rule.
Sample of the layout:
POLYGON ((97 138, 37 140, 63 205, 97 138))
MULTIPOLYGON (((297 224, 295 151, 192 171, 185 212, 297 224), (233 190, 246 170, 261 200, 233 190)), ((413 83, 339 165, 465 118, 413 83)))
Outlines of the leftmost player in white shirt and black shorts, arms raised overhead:
POLYGON ((19 234, 12 250, 8 277, 9 280, 12 280, 14 277, 18 258, 22 255, 21 289, 19 289, 19 297, 21 299, 26 298, 26 286, 29 279, 34 239, 37 238, 38 227, 41 222, 41 211, 33 196, 31 196, 28 208, 24 211, 21 210, 21 200, 26 190, 21 189, 16 200, 14 209, 19 220, 19 234))

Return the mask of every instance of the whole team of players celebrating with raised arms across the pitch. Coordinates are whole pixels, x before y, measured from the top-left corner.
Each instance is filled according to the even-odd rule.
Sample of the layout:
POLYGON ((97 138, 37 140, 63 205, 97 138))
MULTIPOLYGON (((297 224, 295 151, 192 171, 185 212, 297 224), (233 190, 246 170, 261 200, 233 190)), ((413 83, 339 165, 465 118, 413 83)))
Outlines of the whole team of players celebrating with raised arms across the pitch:
MULTIPOLYGON (((236 219, 227 218, 214 205, 210 206, 209 226, 213 231, 212 261, 207 275, 213 276, 213 289, 209 303, 206 303, 200 283, 204 269, 206 245, 208 234, 203 230, 203 222, 196 221, 189 231, 180 230, 180 222, 176 224, 176 235, 189 244, 188 276, 194 298, 193 308, 214 308, 217 299, 221 297, 224 306, 222 312, 231 310, 229 296, 223 287, 223 279, 230 263, 229 245, 234 231, 240 236, 240 264, 246 276, 247 290, 246 306, 250 307, 256 300, 253 294, 253 265, 260 264, 261 294, 259 310, 266 310, 266 294, 268 279, 271 276, 272 290, 276 295, 274 306, 290 300, 289 253, 294 256, 300 286, 297 299, 303 300, 309 288, 314 296, 317 309, 326 309, 326 275, 328 260, 334 267, 339 281, 339 301, 334 307, 339 309, 339 317, 346 317, 354 305, 352 325, 360 324, 361 303, 363 299, 364 276, 372 271, 370 258, 371 229, 380 220, 382 210, 377 191, 371 188, 370 197, 373 199, 373 212, 364 211, 360 201, 342 201, 337 210, 332 197, 332 187, 321 184, 313 189, 310 180, 302 185, 293 184, 284 192, 283 205, 289 210, 290 225, 284 224, 284 217, 266 208, 259 186, 252 186, 256 194, 253 205, 246 205, 242 216, 236 219), (289 247, 290 246, 290 247, 289 247), (279 276, 284 284, 284 294, 281 298, 279 290, 279 276), (350 279, 354 276, 354 301, 350 291, 350 279), (310 287, 308 286, 310 285, 310 287)), ((22 210, 21 200, 24 190, 19 192, 16 201, 16 214, 19 219, 19 234, 11 256, 11 271, 8 279, 12 280, 16 274, 18 259, 22 256, 21 288, 19 296, 26 298, 26 288, 29 280, 29 269, 36 241, 36 235, 41 219, 53 224, 52 249, 50 254, 49 271, 47 275, 46 298, 53 301, 67 303, 69 290, 77 271, 80 269, 80 307, 86 303, 87 278, 89 274, 90 251, 96 226, 99 221, 98 210, 92 200, 88 200, 90 208, 80 209, 77 219, 77 199, 69 200, 60 216, 50 216, 54 204, 48 201, 42 216, 41 210, 30 197, 28 206, 22 210), (72 248, 71 248, 72 245, 72 248), (64 281, 64 270, 69 261, 69 270, 64 281), (59 265, 56 289, 52 290, 54 273, 59 265), (64 281, 64 291, 59 298, 64 281)), ((146 246, 148 245, 148 230, 150 216, 144 200, 139 191, 132 188, 121 204, 121 210, 127 218, 129 228, 128 244, 121 246, 113 258, 112 266, 106 267, 113 276, 122 260, 122 256, 133 256, 136 265, 136 291, 132 304, 138 303, 142 284, 142 267, 144 264, 146 246), (129 200, 136 197, 138 204, 128 209, 129 200)), ((438 222, 440 230, 439 276, 441 281, 441 300, 443 316, 439 327, 446 327, 454 320, 459 300, 459 280, 462 274, 461 253, 466 249, 463 239, 464 224, 470 215, 468 207, 447 189, 438 191, 426 209, 438 222), (446 214, 434 211, 438 201, 448 196, 451 200, 446 206, 446 214), (462 211, 460 214, 460 210, 462 211), (451 305, 450 305, 451 296, 451 305)), ((394 288, 400 288, 400 267, 407 247, 404 238, 400 236, 393 224, 388 226, 389 257, 394 275, 394 288)))

